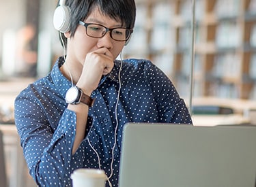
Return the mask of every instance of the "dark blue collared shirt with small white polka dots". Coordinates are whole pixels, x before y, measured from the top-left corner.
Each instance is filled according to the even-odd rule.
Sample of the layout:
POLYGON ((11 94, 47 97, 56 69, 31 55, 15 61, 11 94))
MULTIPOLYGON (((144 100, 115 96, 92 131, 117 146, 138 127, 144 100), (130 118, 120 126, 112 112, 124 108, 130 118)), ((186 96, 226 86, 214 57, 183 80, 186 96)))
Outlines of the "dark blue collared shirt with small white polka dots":
MULTIPOLYGON (((118 97, 121 62, 115 61, 111 73, 102 77, 91 94, 96 100, 89 108, 85 139, 72 154, 76 113, 67 109, 65 95, 72 83, 59 69, 63 63, 64 59, 60 57, 45 78, 30 84, 15 101, 20 143, 29 173, 39 186, 72 186, 70 175, 74 169, 99 168, 96 152, 100 156, 100 167, 108 176, 111 175, 113 156, 110 181, 113 186, 118 186, 124 124, 192 124, 184 100, 169 78, 150 61, 122 61, 122 86, 118 97), (117 143, 112 153, 115 128, 117 143)), ((106 186, 109 186, 107 182, 106 186)))

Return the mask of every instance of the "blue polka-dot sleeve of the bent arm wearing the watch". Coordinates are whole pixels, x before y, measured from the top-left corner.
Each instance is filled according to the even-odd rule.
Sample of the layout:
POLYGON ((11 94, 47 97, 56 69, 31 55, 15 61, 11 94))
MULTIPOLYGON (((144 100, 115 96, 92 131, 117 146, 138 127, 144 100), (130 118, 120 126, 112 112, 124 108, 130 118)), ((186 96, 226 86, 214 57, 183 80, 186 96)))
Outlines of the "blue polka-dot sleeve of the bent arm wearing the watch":
POLYGON ((23 95, 15 101, 15 122, 35 182, 40 186, 66 186, 70 181, 76 114, 66 109, 53 130, 40 103, 23 95))

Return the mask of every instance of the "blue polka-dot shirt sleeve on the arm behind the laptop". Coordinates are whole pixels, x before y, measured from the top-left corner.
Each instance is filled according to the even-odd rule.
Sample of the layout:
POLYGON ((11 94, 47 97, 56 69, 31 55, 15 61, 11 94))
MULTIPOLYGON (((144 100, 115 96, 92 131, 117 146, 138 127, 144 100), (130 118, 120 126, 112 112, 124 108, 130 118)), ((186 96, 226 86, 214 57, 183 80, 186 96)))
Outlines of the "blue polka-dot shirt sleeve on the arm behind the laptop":
POLYGON ((148 62, 147 65, 145 72, 147 72, 147 80, 154 90, 154 98, 158 103, 160 122, 192 124, 186 103, 171 80, 151 62, 148 62))

